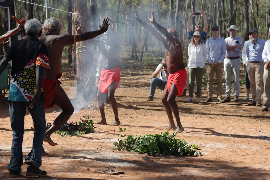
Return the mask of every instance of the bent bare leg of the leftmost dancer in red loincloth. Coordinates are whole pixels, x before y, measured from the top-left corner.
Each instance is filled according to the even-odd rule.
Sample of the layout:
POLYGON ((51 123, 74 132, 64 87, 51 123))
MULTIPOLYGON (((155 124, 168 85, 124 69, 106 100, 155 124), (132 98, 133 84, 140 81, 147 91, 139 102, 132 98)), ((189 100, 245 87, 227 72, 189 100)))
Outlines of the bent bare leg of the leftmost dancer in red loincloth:
POLYGON ((61 86, 56 90, 53 102, 62 109, 62 112, 56 117, 53 125, 45 133, 44 141, 48 142, 51 146, 57 145, 57 143, 51 140, 51 134, 65 124, 74 112, 74 108, 61 86))

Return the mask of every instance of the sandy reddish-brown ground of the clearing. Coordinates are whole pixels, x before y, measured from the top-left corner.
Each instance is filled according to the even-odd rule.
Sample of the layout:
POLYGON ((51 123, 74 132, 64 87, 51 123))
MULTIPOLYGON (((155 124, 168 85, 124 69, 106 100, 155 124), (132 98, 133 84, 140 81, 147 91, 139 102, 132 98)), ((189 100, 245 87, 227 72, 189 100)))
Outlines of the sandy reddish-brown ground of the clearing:
MULTIPOLYGON (((120 126, 94 125, 95 133, 62 137, 51 136, 57 146, 44 142, 48 156, 43 157, 40 169, 47 171, 44 180, 165 180, 165 179, 270 179, 269 165, 269 112, 260 112, 262 107, 247 106, 247 102, 211 103, 192 102, 187 97, 177 97, 179 113, 184 132, 176 138, 200 146, 200 157, 156 157, 126 151, 117 151, 113 142, 119 135, 138 135, 165 132, 168 118, 161 103, 163 91, 156 90, 153 101, 146 101, 149 95, 151 73, 122 71, 116 90, 120 126), (121 132, 126 128, 126 131, 121 132), (116 165, 124 174, 107 175, 95 173, 95 169, 116 165)), ((76 97, 76 80, 62 79, 62 87, 70 99, 76 97)), ((225 87, 224 87, 225 88, 225 87)), ((239 99, 245 97, 241 89, 239 99)), ((225 97, 225 95, 223 95, 225 97)), ((206 90, 203 97, 206 99, 206 90)), ((47 122, 53 122, 61 110, 55 106, 46 110, 47 122)), ((110 105, 106 104, 108 123, 114 121, 110 105)), ((69 121, 76 122, 82 116, 91 116, 93 122, 100 121, 95 107, 76 111, 69 121)), ((32 118, 25 116, 23 156, 30 151, 33 140, 32 118)), ((169 131, 172 134, 174 131, 169 131)), ((0 179, 33 179, 25 175, 27 165, 23 164, 19 178, 10 178, 7 166, 10 160, 12 130, 8 107, 0 104, 0 179)))

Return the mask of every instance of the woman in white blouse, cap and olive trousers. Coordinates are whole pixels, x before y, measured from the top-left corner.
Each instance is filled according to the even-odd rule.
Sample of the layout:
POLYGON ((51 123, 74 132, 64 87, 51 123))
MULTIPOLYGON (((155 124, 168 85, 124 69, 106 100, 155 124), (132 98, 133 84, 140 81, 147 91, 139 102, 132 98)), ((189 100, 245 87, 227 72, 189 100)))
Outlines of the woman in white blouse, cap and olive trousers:
POLYGON ((196 102, 200 102, 200 96, 202 92, 202 77, 204 73, 205 61, 206 61, 206 46, 203 43, 201 33, 199 31, 195 31, 193 34, 193 38, 189 44, 188 48, 189 54, 189 98, 187 102, 192 102, 193 98, 193 89, 195 84, 197 84, 197 100, 196 102))

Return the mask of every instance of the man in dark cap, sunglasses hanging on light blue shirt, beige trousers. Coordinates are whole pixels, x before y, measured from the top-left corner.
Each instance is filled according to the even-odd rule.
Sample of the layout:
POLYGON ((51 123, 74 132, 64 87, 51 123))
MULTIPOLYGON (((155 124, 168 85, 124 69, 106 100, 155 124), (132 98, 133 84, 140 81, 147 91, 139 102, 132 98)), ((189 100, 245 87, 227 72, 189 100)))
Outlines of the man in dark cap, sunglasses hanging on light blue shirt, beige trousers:
POLYGON ((263 59, 262 50, 265 41, 259 38, 257 29, 251 30, 252 39, 246 41, 242 51, 242 61, 247 66, 248 79, 252 94, 252 103, 248 105, 261 106, 263 59))

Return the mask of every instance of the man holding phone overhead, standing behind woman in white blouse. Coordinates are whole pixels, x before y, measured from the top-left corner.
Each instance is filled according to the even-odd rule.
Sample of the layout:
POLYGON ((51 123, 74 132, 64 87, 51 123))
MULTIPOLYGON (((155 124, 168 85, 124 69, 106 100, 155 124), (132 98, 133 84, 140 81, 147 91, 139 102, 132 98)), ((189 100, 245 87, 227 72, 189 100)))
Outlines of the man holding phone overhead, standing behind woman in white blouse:
MULTIPOLYGON (((194 29, 194 32, 192 31, 192 29, 191 29, 191 20, 192 20, 193 17, 195 17, 195 12, 192 12, 190 14, 190 18, 189 18, 188 23, 187 23, 187 32, 188 32, 189 44, 190 44, 190 39, 192 38, 194 32, 196 32, 196 31, 199 31, 201 33, 201 37, 202 37, 203 42, 205 44, 205 39, 206 39, 206 36, 207 36, 207 31, 208 31, 208 23, 207 23, 207 20, 205 18, 205 11, 200 12, 200 17, 202 17, 203 20, 204 20, 204 29, 203 30, 202 30, 202 27, 200 25, 196 25, 195 29, 194 29)), ((189 62, 187 62, 187 64, 189 64, 189 62)), ((188 66, 186 66, 186 71, 188 73, 187 82, 186 82, 184 92, 183 92, 183 94, 181 96, 186 96, 186 90, 189 89, 189 67, 188 66)), ((195 94, 196 93, 197 93, 197 85, 195 87, 195 94)))

